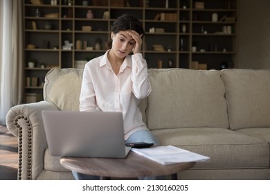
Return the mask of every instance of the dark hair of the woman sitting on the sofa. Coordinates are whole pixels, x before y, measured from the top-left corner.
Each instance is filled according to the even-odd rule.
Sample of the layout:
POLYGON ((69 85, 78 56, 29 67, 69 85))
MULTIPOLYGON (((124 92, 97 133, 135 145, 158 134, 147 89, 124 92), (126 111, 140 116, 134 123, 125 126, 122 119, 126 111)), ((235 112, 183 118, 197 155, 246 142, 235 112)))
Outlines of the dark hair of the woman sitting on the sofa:
MULTIPOLYGON (((145 35, 145 31, 143 30, 143 26, 136 17, 133 17, 129 14, 121 15, 114 21, 114 24, 111 26, 111 32, 114 34, 119 33, 119 31, 125 31, 125 30, 134 30, 139 35, 143 36, 145 35)), ((109 40, 107 43, 108 48, 111 48, 112 39, 109 40)))

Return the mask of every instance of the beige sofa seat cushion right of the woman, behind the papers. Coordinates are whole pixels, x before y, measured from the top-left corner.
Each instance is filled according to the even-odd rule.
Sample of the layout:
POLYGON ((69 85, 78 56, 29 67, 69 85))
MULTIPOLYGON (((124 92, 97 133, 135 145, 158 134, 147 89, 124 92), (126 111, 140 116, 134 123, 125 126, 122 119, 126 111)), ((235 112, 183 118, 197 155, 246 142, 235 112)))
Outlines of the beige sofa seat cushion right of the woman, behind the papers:
POLYGON ((195 168, 269 168, 267 141, 222 128, 152 130, 161 145, 174 145, 210 157, 195 168))

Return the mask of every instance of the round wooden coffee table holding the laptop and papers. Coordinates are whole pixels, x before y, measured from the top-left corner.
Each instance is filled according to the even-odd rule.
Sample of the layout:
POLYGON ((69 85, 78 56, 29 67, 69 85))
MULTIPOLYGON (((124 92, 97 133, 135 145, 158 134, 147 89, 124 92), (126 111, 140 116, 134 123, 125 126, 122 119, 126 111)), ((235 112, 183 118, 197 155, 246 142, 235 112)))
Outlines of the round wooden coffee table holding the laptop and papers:
POLYGON ((100 176, 102 179, 161 175, 170 175, 171 179, 177 179, 179 171, 192 168, 196 164, 195 162, 187 162, 163 166, 134 152, 129 152, 125 159, 62 157, 60 163, 69 170, 100 176))

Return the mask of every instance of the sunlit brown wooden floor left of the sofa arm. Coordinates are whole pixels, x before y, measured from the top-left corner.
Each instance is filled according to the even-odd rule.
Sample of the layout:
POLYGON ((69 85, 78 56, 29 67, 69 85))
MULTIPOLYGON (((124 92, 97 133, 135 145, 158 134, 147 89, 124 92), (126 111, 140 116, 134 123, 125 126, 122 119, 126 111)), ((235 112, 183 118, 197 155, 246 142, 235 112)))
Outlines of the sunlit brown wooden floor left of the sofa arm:
POLYGON ((17 180, 17 138, 0 125, 0 180, 17 180))

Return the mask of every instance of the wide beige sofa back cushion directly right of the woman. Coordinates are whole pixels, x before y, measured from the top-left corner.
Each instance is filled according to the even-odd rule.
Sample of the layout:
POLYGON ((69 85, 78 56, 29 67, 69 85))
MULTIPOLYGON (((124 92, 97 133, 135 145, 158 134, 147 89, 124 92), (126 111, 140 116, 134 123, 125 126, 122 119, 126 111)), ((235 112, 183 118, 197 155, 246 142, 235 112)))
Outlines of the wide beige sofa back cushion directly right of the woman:
POLYGON ((149 69, 147 127, 228 128, 225 88, 220 71, 149 69))

